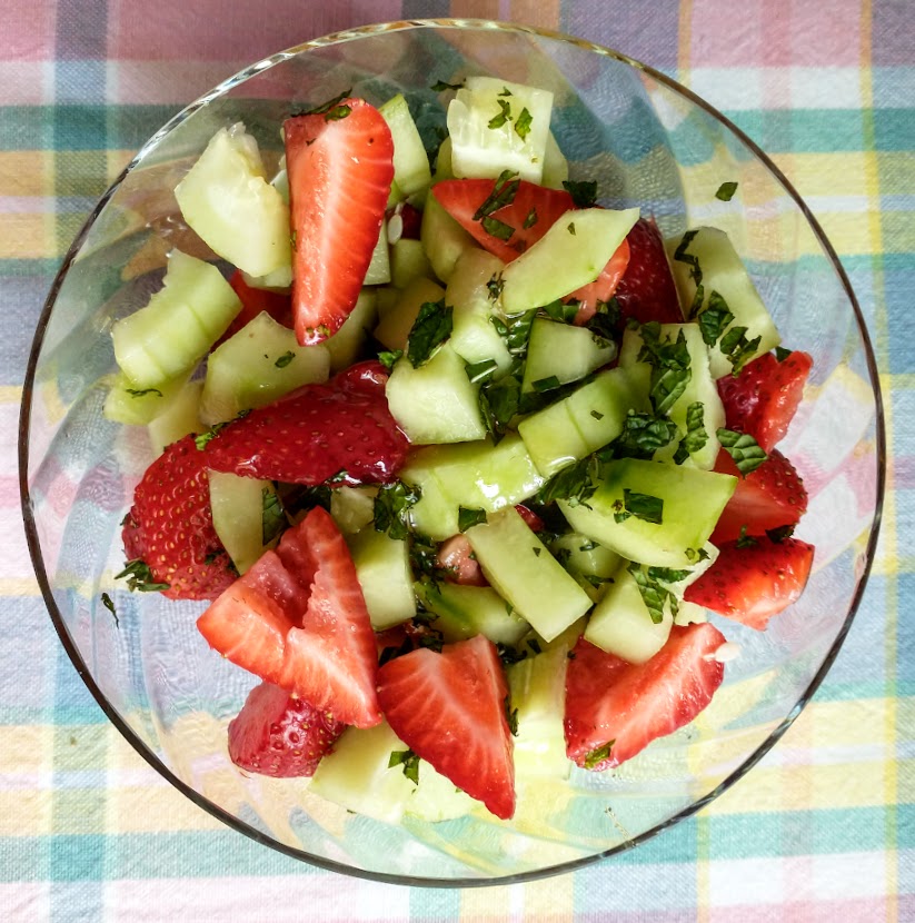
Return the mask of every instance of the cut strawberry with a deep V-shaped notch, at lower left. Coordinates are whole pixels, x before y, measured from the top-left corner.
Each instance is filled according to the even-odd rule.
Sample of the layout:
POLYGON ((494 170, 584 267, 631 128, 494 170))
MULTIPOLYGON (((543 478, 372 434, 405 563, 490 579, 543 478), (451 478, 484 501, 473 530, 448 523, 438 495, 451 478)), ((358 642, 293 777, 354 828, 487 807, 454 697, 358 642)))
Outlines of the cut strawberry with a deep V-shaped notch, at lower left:
POLYGON ((315 507, 198 619, 222 656, 330 713, 381 719, 375 633, 356 568, 330 515, 315 507))

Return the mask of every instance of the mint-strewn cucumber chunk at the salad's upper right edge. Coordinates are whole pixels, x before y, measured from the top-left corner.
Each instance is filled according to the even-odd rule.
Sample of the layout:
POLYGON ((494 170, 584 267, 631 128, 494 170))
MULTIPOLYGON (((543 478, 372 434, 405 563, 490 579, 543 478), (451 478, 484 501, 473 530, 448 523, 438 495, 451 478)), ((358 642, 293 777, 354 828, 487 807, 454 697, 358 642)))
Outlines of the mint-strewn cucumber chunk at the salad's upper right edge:
MULTIPOLYGON (((687 231, 693 234, 693 231, 687 231)), ((670 268, 677 284, 680 305, 684 311, 689 310, 696 296, 696 280, 693 278, 693 267, 676 258, 677 248, 683 242, 683 236, 669 240, 666 245, 670 258, 670 268)), ((724 330, 723 337, 737 327, 746 327, 748 341, 759 337, 759 345, 749 356, 754 359, 774 349, 782 341, 778 330, 773 322, 756 286, 743 260, 734 249, 728 236, 718 228, 697 228, 686 248, 686 255, 698 260, 702 270, 704 300, 702 310, 708 307, 712 292, 716 291, 727 302, 734 315, 734 320, 724 330)), ((697 314, 698 314, 697 312, 697 314)), ((720 378, 733 370, 730 360, 722 353, 720 340, 710 350, 712 375, 720 378)))

